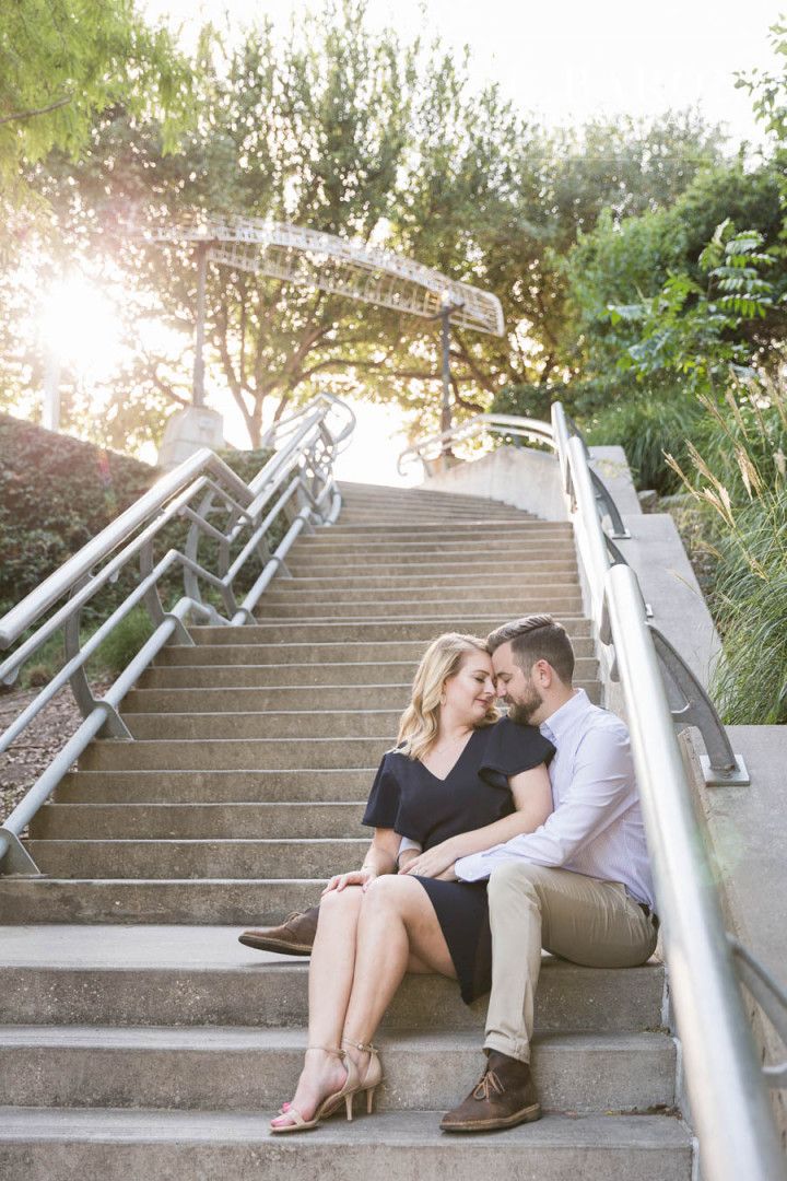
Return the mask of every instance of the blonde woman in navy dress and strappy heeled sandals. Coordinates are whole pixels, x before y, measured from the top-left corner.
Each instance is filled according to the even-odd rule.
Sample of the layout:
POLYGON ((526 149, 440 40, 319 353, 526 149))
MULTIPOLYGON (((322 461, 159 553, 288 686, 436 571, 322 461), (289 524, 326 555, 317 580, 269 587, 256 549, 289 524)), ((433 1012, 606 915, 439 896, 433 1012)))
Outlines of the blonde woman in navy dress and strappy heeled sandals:
POLYGON ((370 1042, 406 972, 457 979, 467 1003, 488 991, 486 883, 458 882, 452 867, 543 824, 555 753, 538 730, 497 720, 494 698, 483 640, 451 632, 429 645, 399 745, 372 787, 372 846, 360 869, 323 893, 303 1071, 271 1131, 313 1128, 342 1102, 350 1120, 359 1092, 372 1110, 382 1068, 370 1042), (401 837, 424 852, 396 873, 401 837))

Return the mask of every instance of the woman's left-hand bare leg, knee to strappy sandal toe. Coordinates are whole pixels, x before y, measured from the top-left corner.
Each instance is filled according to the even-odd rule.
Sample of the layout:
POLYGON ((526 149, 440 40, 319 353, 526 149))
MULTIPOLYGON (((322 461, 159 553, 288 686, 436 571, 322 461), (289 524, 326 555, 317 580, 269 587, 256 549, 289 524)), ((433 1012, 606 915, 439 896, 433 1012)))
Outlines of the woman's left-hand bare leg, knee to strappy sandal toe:
MULTIPOLYGON (((340 1046, 353 986, 355 944, 363 893, 358 886, 332 890, 320 903, 320 922, 309 967, 309 1045, 340 1046)), ((310 1120, 327 1095, 341 1090, 347 1069, 322 1050, 309 1050, 291 1105, 310 1120)), ((291 1123, 287 1114, 274 1127, 291 1123)))

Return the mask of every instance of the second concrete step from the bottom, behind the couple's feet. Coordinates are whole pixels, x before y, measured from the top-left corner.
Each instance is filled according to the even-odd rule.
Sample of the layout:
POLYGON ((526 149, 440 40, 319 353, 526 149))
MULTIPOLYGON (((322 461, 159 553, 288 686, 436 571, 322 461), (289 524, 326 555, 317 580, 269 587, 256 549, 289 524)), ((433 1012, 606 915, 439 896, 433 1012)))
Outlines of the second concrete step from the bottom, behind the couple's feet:
MULTIPOLYGON (((276 1111, 293 1095, 306 1030, 0 1026, 0 1104, 276 1111)), ((379 1039, 379 1111, 446 1110, 478 1079, 476 1032, 399 1031, 379 1039)), ((532 1070, 545 1110, 671 1107, 675 1046, 664 1033, 546 1033, 532 1070)))

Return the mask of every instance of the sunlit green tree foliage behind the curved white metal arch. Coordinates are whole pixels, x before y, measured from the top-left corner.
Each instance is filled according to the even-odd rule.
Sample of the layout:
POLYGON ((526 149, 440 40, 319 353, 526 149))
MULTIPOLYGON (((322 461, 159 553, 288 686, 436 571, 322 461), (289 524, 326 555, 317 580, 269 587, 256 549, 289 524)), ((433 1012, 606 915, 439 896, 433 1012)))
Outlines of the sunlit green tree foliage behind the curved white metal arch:
MULTIPOLYGON (((139 398, 157 431, 171 399, 188 397, 191 370, 194 259, 129 242, 135 208, 270 216, 494 291, 506 337, 452 338, 455 400, 474 412, 504 386, 576 372, 558 262, 578 229, 605 207, 623 216, 674 201, 719 151, 717 133, 690 116, 547 135, 496 86, 473 91, 466 63, 439 43, 370 33, 360 0, 326 4, 286 38, 250 28, 225 59, 205 60, 201 103, 179 155, 164 157, 156 129, 117 106, 78 169, 55 161, 40 176, 72 248, 123 268, 129 337, 151 315, 175 333, 169 348, 137 341, 112 399, 127 407, 118 428, 139 398)), ((251 439, 267 406, 317 387, 395 398, 425 425, 439 403, 434 324, 216 267, 208 320, 209 389, 230 391, 251 439)))

